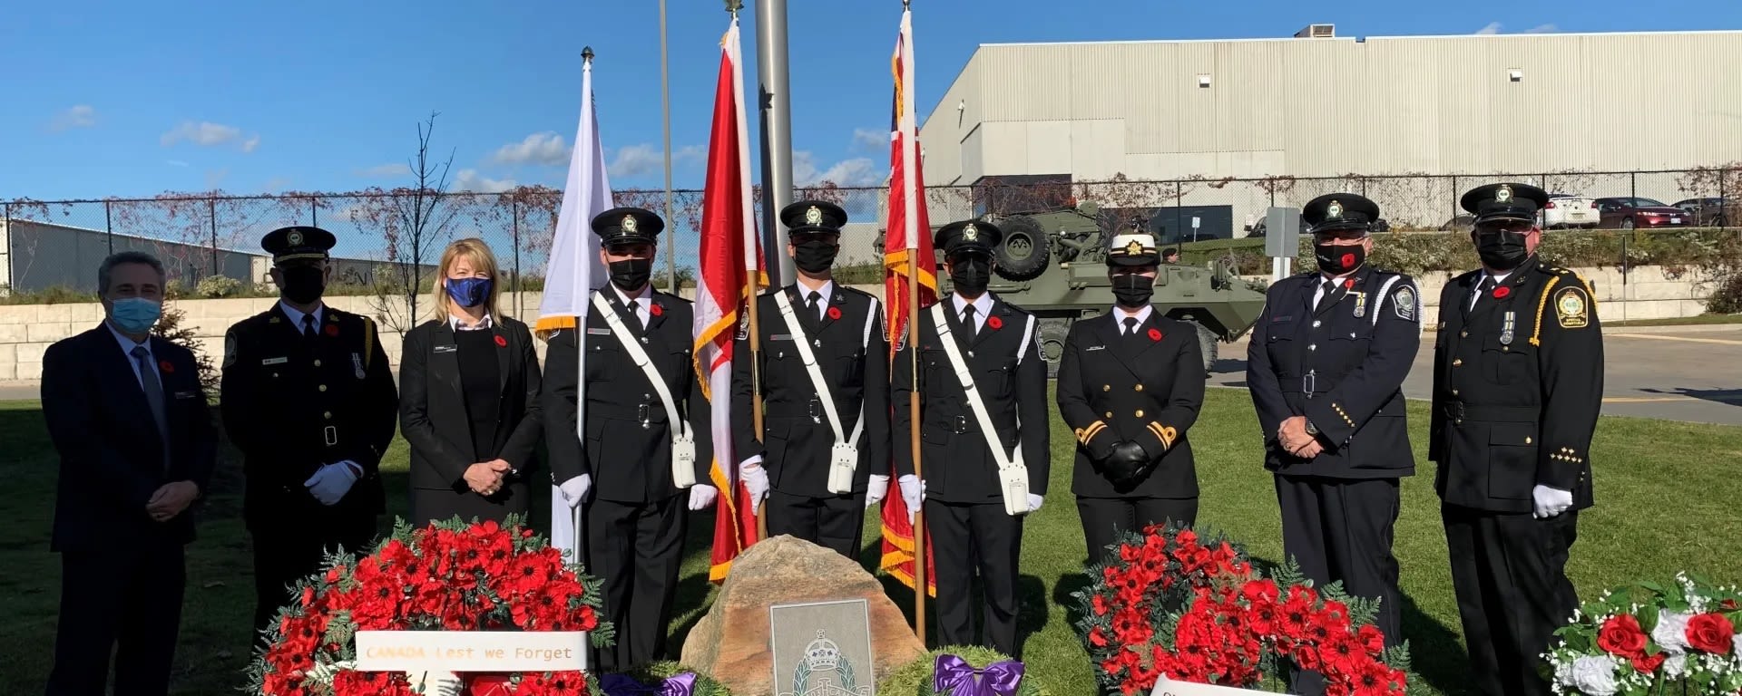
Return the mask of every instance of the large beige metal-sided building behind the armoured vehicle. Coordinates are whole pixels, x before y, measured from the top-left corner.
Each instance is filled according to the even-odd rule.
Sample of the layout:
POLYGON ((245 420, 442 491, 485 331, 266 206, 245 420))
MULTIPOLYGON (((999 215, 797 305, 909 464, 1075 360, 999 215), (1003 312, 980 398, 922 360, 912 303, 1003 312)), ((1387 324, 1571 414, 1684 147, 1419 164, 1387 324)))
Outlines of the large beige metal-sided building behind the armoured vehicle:
MULTIPOLYGON (((1711 167, 1742 160, 1742 31, 1348 38, 1312 24, 1293 38, 986 44, 920 137, 935 186, 1456 174, 1469 188, 1711 167)), ((1658 179, 1570 193, 1676 197, 1658 179)), ((1178 193, 1158 204, 1235 237, 1272 202, 1256 186, 1178 193)), ((1415 214, 1432 224, 1453 193, 1374 198, 1432 198, 1415 214)))

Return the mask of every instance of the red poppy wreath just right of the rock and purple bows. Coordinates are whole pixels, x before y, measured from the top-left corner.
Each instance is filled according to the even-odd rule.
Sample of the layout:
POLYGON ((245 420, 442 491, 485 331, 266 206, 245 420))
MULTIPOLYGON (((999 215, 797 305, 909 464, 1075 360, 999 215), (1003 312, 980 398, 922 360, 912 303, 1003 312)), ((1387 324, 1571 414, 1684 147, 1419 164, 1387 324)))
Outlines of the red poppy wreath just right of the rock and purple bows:
POLYGON ((1280 666, 1320 672, 1329 696, 1408 691, 1406 646, 1385 647, 1376 602, 1315 590, 1294 564, 1265 578, 1219 536, 1150 525, 1077 592, 1078 633, 1103 687, 1148 694, 1174 680, 1282 691, 1280 666))

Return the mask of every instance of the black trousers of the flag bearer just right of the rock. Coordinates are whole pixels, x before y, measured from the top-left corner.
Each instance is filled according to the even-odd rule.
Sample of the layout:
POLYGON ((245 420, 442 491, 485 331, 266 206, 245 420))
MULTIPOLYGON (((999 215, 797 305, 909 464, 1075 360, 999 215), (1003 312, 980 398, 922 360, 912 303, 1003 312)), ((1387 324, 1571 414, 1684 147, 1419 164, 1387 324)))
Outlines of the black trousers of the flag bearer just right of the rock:
POLYGON ((925 525, 937 560, 937 644, 982 646, 1012 658, 1016 649, 1016 576, 1023 553, 1023 517, 996 503, 927 499, 925 525), (984 599, 984 640, 976 639, 974 578, 984 599))

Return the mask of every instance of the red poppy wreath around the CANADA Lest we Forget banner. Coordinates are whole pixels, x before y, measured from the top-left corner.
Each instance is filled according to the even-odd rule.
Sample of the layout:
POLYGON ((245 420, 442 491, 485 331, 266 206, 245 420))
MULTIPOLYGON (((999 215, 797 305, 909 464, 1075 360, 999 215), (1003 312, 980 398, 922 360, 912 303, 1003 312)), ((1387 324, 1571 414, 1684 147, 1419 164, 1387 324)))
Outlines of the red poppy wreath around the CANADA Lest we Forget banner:
MULTIPOLYGON (((327 555, 326 571, 298 583, 270 644, 254 656, 249 693, 411 696, 416 691, 404 673, 354 670, 357 632, 591 632, 603 647, 613 630, 599 621, 599 581, 516 517, 503 525, 458 517, 418 529, 399 522, 373 553, 327 555)), ((462 677, 474 693, 589 694, 582 672, 462 677)))

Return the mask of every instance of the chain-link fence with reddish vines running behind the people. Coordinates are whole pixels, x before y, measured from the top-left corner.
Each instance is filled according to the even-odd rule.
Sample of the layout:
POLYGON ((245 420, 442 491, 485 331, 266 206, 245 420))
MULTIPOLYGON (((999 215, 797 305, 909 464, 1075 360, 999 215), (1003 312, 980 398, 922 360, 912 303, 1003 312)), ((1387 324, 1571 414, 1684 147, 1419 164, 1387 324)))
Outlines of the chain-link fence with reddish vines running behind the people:
MULTIPOLYGON (((1164 244, 1239 238, 1261 230, 1270 207, 1300 207, 1324 193, 1373 198, 1394 231, 1462 230, 1463 191, 1498 181, 1529 183, 1550 193, 1590 198, 1651 198, 1685 205, 1691 226, 1733 226, 1742 202, 1742 167, 1641 172, 1514 172, 1488 176, 1341 176, 1178 181, 1071 181, 1070 176, 982 179, 972 186, 932 186, 925 207, 934 228, 944 223, 1033 212, 1094 202, 1101 223, 1146 224, 1164 244), (1728 212, 1728 214, 1726 214, 1728 212)), ((760 191, 756 216, 763 219, 760 191)), ((455 238, 483 238, 496 252, 503 291, 544 287, 545 263, 563 191, 523 186, 503 193, 286 193, 261 197, 164 195, 141 200, 10 200, 0 204, 0 296, 68 294, 89 298, 96 266, 117 251, 146 251, 164 259, 171 278, 195 296, 270 296, 268 258, 260 238, 286 224, 317 224, 338 237, 334 294, 378 292, 395 278, 429 285, 430 266, 455 238)), ((817 198, 848 214, 840 266, 880 278, 876 242, 888 211, 885 188, 800 188, 794 200, 817 198)), ((625 190, 617 205, 665 216, 665 191, 625 190)), ((693 284, 702 191, 671 193, 655 278, 693 284)), ((1604 214, 1601 226, 1624 226, 1604 214)), ((765 249, 773 258, 784 249, 765 249)), ((866 282, 866 278, 854 278, 866 282)), ((874 280, 871 280, 874 282, 874 280)), ((669 287, 669 285, 667 285, 669 287)))

